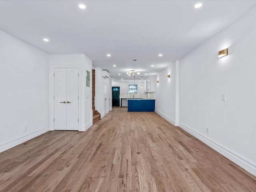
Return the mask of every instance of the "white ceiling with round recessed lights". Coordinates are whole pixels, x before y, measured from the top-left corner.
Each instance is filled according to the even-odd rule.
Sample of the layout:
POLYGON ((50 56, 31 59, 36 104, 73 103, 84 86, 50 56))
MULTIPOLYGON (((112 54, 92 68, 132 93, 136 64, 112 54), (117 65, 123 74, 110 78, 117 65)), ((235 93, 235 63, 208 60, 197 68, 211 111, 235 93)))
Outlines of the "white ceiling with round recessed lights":
POLYGON ((114 81, 132 81, 127 71, 155 75, 256 5, 255 0, 206 0, 194 9, 197 2, 1 0, 0 30, 49 54, 86 54, 114 81), (80 3, 86 9, 78 8, 80 3))

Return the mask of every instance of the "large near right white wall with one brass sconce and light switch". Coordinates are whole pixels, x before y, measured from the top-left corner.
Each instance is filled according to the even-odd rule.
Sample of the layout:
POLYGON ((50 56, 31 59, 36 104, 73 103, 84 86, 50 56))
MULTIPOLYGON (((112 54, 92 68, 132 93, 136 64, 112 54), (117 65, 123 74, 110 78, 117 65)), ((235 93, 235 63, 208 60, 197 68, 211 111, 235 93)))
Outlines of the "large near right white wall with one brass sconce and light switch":
POLYGON ((254 7, 180 60, 180 126, 254 175, 255 20, 254 7))

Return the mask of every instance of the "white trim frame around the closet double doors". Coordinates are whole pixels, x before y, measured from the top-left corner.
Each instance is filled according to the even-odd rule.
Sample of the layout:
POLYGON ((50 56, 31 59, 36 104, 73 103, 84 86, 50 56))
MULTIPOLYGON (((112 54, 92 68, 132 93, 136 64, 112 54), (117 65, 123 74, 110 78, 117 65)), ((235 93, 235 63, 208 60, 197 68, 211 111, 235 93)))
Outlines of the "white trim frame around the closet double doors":
MULTIPOLYGON (((49 68, 49 124, 50 131, 54 131, 54 68, 78 68, 78 87, 79 87, 79 101, 78 101, 78 131, 82 131, 81 122, 82 122, 82 74, 81 66, 50 66, 49 68)), ((84 112, 83 112, 84 113, 84 112)))

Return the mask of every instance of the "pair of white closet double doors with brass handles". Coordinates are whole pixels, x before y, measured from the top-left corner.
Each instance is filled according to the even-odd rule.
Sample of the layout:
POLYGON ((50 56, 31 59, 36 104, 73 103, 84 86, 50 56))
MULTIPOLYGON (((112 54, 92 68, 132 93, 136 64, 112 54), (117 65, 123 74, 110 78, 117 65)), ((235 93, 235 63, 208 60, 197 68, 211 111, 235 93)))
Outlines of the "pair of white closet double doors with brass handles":
POLYGON ((54 130, 78 130, 78 73, 78 68, 54 68, 54 130))

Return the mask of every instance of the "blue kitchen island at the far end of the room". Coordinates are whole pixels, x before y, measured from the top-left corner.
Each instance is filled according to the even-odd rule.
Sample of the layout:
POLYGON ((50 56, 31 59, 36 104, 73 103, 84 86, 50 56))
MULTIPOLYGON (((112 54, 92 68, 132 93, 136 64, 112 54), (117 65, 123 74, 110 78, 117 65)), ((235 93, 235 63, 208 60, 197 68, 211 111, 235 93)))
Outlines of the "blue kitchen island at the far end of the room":
POLYGON ((128 112, 154 112, 154 99, 127 99, 128 112))

